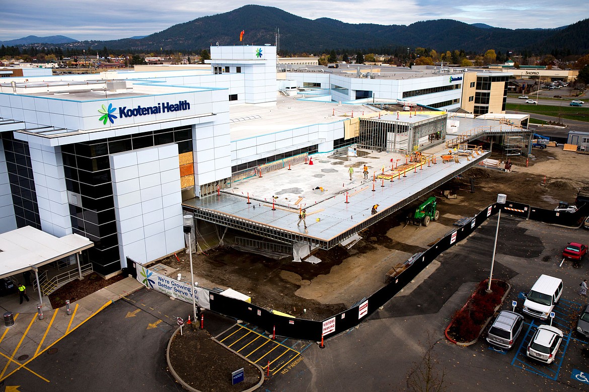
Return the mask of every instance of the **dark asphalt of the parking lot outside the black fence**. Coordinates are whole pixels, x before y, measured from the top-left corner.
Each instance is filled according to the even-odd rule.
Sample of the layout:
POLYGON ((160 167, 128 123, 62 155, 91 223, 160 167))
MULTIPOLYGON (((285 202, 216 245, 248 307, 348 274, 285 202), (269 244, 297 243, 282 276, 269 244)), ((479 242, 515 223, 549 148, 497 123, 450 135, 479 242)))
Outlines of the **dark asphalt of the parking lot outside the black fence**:
MULTIPOLYGON (((421 361, 428 341, 435 343, 432 353, 439 360, 434 370, 445 371, 451 391, 589 390, 589 384, 571 378, 575 370, 589 372, 589 360, 581 354, 589 343, 574 333, 567 338, 566 350, 563 347, 557 355, 557 363, 551 366, 533 363, 522 355, 519 346, 529 339, 524 333, 508 353, 489 349, 484 340, 458 347, 444 338, 452 314, 464 304, 475 284, 489 274, 496 222, 497 217, 492 218, 474 235, 442 254, 438 267, 432 264, 405 293, 393 298, 359 328, 326 340, 323 350, 310 347, 302 361, 276 374, 262 390, 406 390, 407 375, 421 361)), ((521 310, 519 293, 528 291, 541 273, 547 273, 564 281, 561 304, 571 311, 560 323, 574 323, 574 311, 586 299, 577 294, 577 289, 589 275, 589 258, 581 268, 567 262, 559 268, 561 249, 569 241, 587 243, 589 231, 502 215, 494 277, 509 280, 512 285, 507 304, 517 300, 521 310)), ((5 387, 19 386, 21 392, 180 391, 166 370, 165 350, 176 328, 176 317, 186 319, 190 311, 190 304, 140 290, 91 318, 59 341, 54 346, 57 352, 32 361, 28 365, 31 371, 21 369, 9 377, 5 387)), ((233 324, 211 313, 206 313, 205 320, 213 335, 233 324)), ((533 330, 531 318, 526 321, 525 330, 533 330)))

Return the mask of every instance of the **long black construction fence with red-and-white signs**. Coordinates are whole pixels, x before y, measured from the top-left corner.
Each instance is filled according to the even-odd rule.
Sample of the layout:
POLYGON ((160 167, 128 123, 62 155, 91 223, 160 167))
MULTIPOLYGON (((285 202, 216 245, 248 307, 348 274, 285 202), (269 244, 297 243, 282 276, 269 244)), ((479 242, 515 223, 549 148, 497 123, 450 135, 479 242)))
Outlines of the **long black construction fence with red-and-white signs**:
POLYGON ((276 331, 276 335, 294 339, 320 341, 334 337, 335 335, 349 330, 361 323, 370 314, 385 305, 391 298, 399 293, 406 284, 411 282, 423 268, 435 260, 442 252, 458 244, 486 221, 492 215, 497 214, 501 208, 504 214, 514 215, 525 219, 531 219, 549 224, 576 227, 581 224, 583 218, 588 215, 589 204, 585 204, 576 212, 557 212, 531 207, 514 201, 507 201, 504 205, 492 204, 472 218, 464 218, 460 226, 448 232, 435 245, 428 250, 413 255, 405 261, 406 267, 401 273, 392 277, 388 284, 370 295, 370 297, 359 301, 353 307, 342 313, 333 315, 323 321, 305 320, 303 318, 288 317, 286 315, 274 314, 254 304, 247 303, 235 298, 226 297, 223 294, 210 292, 210 310, 224 314, 247 323, 263 328, 269 334, 276 331))

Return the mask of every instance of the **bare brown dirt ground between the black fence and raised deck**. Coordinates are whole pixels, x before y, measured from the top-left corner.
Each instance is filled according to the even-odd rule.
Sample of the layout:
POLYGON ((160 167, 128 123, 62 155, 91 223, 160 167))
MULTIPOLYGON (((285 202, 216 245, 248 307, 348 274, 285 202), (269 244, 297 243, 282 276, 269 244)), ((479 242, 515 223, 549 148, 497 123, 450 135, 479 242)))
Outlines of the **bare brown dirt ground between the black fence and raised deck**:
MULTIPOLYGON (((534 149, 534 158, 510 157, 512 171, 472 168, 459 178, 442 185, 438 196, 439 221, 428 227, 405 227, 405 208, 360 233, 363 240, 350 250, 336 247, 315 254, 318 264, 293 263, 292 258, 273 260, 229 247, 193 254, 195 280, 204 287, 231 287, 252 297, 252 303, 297 317, 324 320, 351 307, 385 283, 385 273, 412 254, 451 230, 452 224, 469 217, 497 200, 535 207, 554 208, 558 201, 574 202, 579 188, 589 186, 589 155, 562 151, 561 147, 534 149), (471 178, 475 192, 471 192, 471 178), (442 196, 452 190, 455 199, 442 196), (306 310, 306 311, 305 311, 306 310)), ((492 154, 504 161, 504 155, 492 154)), ((414 206, 413 206, 414 208, 414 206)), ((185 252, 160 261, 189 275, 185 252)))

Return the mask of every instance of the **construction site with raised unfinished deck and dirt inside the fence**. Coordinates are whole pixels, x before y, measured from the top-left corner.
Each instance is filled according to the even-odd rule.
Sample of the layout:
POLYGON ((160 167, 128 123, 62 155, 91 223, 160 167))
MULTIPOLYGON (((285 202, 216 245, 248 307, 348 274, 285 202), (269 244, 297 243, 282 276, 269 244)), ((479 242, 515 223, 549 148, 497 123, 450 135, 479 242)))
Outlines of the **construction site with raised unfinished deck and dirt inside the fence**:
MULTIPOLYGON (((532 131, 497 120, 459 121, 463 132, 444 139, 426 134, 412 154, 387 151, 388 139, 375 127, 360 132, 355 146, 274 162, 230 188, 185 202, 197 218, 196 280, 231 287, 261 307, 321 320, 385 285, 457 221, 492 204, 497 192, 546 206, 574 198, 582 182, 541 184, 541 174, 524 174, 551 165, 561 149, 534 151, 530 161, 532 131), (523 140, 518 155, 508 155, 509 137, 523 140), (505 172, 507 157, 517 174, 505 172), (544 200, 534 197, 538 192, 547 194, 544 200), (431 197, 434 211, 416 218, 416 207, 431 207, 431 197)), ((188 254, 177 256, 163 264, 187 276, 188 254)))

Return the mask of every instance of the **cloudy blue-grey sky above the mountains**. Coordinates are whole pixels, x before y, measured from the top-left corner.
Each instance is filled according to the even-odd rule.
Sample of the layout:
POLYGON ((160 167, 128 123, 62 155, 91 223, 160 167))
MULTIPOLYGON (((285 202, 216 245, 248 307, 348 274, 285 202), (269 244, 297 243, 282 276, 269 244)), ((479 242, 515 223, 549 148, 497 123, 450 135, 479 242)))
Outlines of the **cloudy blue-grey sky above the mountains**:
POLYGON ((554 28, 589 18, 587 0, 25 0, 2 1, 0 41, 27 35, 65 35, 78 41, 149 35, 245 4, 271 5, 309 19, 381 25, 455 19, 511 29, 554 28))

